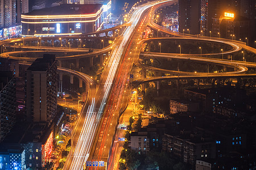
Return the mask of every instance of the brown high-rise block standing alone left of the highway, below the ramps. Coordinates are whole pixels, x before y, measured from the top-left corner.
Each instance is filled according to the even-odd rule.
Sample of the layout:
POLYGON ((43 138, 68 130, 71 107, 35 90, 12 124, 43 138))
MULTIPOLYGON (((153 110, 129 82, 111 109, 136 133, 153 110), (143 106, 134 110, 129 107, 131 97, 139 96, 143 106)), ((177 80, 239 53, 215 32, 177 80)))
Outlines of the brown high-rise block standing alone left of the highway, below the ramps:
POLYGON ((57 61, 44 54, 26 71, 27 121, 52 122, 57 112, 57 61))

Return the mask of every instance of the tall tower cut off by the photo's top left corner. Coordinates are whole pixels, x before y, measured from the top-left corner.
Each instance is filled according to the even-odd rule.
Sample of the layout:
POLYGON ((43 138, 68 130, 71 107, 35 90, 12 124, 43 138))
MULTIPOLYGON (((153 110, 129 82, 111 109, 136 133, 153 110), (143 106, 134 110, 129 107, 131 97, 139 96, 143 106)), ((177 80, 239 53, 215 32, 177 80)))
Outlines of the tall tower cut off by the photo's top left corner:
POLYGON ((0 28, 16 23, 16 0, 0 0, 0 28))

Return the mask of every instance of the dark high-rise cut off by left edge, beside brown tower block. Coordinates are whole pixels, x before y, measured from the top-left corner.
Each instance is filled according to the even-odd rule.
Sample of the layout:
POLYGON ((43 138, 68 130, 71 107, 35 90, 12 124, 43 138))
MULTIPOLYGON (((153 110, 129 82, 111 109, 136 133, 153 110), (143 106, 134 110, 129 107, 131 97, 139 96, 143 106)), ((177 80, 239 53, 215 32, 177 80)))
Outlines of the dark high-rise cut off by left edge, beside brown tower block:
POLYGON ((0 141, 15 123, 15 78, 11 71, 0 72, 0 141))

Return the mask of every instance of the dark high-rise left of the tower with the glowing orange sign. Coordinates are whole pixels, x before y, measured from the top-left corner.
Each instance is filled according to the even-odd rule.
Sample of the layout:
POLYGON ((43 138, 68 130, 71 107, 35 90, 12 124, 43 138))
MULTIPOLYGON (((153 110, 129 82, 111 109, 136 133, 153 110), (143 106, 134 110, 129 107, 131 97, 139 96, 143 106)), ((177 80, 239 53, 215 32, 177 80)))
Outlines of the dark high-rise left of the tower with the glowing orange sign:
POLYGON ((179 0, 179 32, 200 33, 200 0, 179 0))

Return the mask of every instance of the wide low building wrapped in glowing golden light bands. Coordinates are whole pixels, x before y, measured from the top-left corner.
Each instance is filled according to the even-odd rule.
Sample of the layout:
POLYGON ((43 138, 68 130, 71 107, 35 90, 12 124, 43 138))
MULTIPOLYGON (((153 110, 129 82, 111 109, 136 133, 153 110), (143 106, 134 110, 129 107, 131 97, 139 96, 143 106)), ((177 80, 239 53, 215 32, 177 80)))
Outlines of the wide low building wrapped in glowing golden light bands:
POLYGON ((103 23, 101 4, 63 4, 22 15, 22 35, 59 36, 94 32, 103 23))

